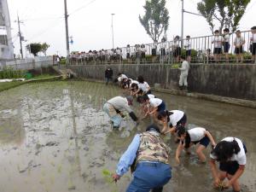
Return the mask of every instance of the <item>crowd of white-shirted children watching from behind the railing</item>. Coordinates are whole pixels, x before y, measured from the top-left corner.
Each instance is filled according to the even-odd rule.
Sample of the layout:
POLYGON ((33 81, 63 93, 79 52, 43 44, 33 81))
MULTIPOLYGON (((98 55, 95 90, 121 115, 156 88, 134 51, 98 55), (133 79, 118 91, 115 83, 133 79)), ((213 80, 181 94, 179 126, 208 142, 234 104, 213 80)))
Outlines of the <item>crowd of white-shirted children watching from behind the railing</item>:
MULTIPOLYGON (((154 41, 154 44, 135 44, 131 46, 127 44, 125 48, 116 49, 101 49, 101 50, 90 50, 89 52, 73 52, 70 55, 71 61, 81 61, 85 63, 119 63, 123 59, 126 59, 126 62, 146 62, 148 59, 147 55, 150 57, 150 61, 170 61, 179 62, 182 55, 182 48, 179 36, 173 38, 172 42, 167 42, 166 38, 162 38, 160 43, 154 41)), ((216 30, 214 36, 211 38, 212 46, 209 45, 212 49, 206 49, 206 53, 203 54, 202 50, 197 50, 196 57, 200 59, 202 55, 205 55, 207 61, 230 61, 230 50, 236 54, 236 62, 243 62, 243 53, 246 40, 244 35, 241 35, 241 31, 236 31, 236 37, 234 39, 230 38, 230 30, 228 28, 224 29, 224 32, 219 32, 216 30), (231 43, 230 43, 231 42, 231 43), (224 59, 222 55, 224 54, 224 59)), ((256 61, 256 26, 251 28, 251 35, 249 38, 249 51, 252 54, 252 62, 256 61)), ((195 49, 192 46, 192 39, 190 36, 186 36, 183 41, 184 53, 187 61, 191 61, 192 49, 195 49)), ((205 45, 207 47, 207 45, 205 45)), ((208 47, 209 47, 208 46, 208 47)))

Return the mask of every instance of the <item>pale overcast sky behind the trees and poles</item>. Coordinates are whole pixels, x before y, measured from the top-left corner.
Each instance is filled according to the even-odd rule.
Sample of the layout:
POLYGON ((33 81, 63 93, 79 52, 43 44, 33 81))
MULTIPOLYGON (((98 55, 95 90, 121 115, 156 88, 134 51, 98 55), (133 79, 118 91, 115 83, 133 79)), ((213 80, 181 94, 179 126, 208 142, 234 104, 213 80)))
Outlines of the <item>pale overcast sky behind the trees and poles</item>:
MULTIPOLYGON (((181 1, 166 0, 169 10, 170 26, 168 40, 181 33, 181 1)), ((196 3, 200 0, 185 0, 184 8, 197 13, 196 3)), ((8 0, 15 54, 19 53, 18 26, 15 23, 17 13, 24 24, 21 32, 29 44, 46 42, 50 45, 48 54, 57 52, 66 54, 64 0, 8 0)), ((110 49, 112 48, 111 14, 115 47, 126 44, 152 43, 138 20, 143 15, 145 0, 67 0, 69 16, 69 35, 73 36, 74 44, 70 49, 110 49)), ((251 0, 247 12, 241 19, 240 29, 248 30, 256 26, 256 0, 251 0)), ((211 31, 206 20, 201 16, 184 16, 184 35, 191 37, 209 35, 211 31)), ((24 50, 24 54, 26 51, 24 50)))

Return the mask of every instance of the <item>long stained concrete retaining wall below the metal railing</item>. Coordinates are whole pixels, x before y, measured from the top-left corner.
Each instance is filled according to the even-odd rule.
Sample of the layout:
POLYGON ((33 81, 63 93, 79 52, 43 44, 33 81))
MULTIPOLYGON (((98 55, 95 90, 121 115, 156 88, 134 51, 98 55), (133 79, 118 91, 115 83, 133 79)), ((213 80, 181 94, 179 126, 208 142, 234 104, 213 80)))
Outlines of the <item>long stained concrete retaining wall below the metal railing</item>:
MULTIPOLYGON (((112 67, 114 77, 125 73, 136 79, 143 75, 146 81, 160 84, 165 89, 177 89, 179 70, 167 65, 108 65, 112 67)), ((68 66, 74 73, 86 79, 104 79, 107 65, 68 66)), ((256 100, 256 65, 253 64, 207 64, 190 65, 189 91, 216 96, 228 96, 247 100, 256 100)))

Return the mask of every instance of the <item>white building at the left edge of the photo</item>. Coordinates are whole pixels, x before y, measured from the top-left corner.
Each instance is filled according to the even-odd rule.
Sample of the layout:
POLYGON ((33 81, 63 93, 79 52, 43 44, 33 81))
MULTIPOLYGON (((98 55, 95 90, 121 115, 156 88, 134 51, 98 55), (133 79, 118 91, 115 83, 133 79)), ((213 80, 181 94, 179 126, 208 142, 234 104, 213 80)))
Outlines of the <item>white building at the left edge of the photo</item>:
POLYGON ((14 59, 9 8, 7 0, 0 0, 0 61, 14 59))

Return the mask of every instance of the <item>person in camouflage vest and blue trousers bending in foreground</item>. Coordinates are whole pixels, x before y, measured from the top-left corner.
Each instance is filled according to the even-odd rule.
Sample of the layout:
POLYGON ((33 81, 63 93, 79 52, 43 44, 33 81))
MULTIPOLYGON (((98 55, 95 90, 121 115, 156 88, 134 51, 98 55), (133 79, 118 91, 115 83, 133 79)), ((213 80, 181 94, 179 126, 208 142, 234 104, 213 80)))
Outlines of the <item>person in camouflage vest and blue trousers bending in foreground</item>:
POLYGON ((149 125, 147 130, 137 134, 125 154, 119 160, 113 180, 117 182, 131 166, 133 179, 126 192, 163 191, 163 186, 172 178, 169 165, 170 148, 160 139, 160 129, 149 125))

